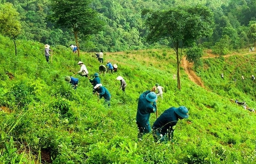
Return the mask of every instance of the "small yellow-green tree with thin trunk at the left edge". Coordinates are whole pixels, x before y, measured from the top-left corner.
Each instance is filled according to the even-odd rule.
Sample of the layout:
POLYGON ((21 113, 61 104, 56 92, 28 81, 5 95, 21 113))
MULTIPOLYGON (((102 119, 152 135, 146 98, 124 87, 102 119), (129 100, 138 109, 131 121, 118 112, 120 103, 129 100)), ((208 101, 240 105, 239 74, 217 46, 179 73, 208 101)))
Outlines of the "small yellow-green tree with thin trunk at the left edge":
POLYGON ((21 33, 21 23, 18 16, 19 13, 13 7, 13 4, 0 4, 0 33, 13 39, 15 55, 17 55, 15 40, 21 33))

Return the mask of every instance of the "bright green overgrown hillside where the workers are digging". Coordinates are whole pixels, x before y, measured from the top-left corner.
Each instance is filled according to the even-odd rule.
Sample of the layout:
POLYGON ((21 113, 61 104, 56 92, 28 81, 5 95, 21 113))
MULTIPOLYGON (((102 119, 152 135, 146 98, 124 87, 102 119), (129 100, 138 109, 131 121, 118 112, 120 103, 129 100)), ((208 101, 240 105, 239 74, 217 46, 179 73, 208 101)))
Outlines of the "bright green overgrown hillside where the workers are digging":
MULTIPOLYGON (((232 96, 218 95, 190 82, 182 68, 182 89, 177 90, 177 81, 172 79, 176 72, 172 50, 105 53, 105 63, 111 61, 119 66, 116 74, 100 75, 103 86, 112 95, 111 108, 106 108, 103 100, 98 103, 92 95, 87 78, 75 75, 79 78, 77 90, 64 82, 66 75, 79 70, 79 60, 86 64, 90 75, 97 72, 99 63, 93 53, 83 53, 78 58, 65 47, 51 47, 53 63, 47 64, 42 44, 18 40, 16 57, 10 40, 1 37, 0 42, 0 106, 9 108, 0 111, 0 120, 5 122, 0 126, 1 143, 6 143, 0 146, 3 150, 17 148, 16 153, 2 151, 1 161, 26 162, 31 158, 36 161, 39 150, 44 152, 42 161, 51 156, 53 161, 48 162, 53 163, 252 163, 254 160, 256 115, 230 102, 232 96), (10 80, 6 71, 14 79, 10 80), (127 82, 125 94, 119 90, 119 81, 115 79, 118 75, 127 82), (190 111, 190 118, 176 126, 174 145, 152 143, 151 134, 137 142, 137 100, 155 83, 165 88, 164 100, 158 100, 157 104, 159 115, 171 106, 186 106, 190 111), (61 115, 64 110, 68 113, 61 115), (12 140, 15 142, 10 146, 12 140)), ((214 65, 220 69, 218 64, 214 65)), ((209 81, 202 76, 209 88, 211 83, 226 84, 216 81, 218 71, 203 75, 216 77, 209 81)), ((250 95, 240 90, 236 93, 253 103, 250 95)), ((156 115, 151 114, 151 124, 155 119, 156 115)))

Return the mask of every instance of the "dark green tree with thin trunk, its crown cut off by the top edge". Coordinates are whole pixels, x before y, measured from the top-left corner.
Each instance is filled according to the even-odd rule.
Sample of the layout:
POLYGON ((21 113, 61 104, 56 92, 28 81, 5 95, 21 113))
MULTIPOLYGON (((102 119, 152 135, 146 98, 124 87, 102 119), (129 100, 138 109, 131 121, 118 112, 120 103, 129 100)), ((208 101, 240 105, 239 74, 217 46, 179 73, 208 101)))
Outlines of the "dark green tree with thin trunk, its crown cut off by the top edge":
POLYGON ((50 20, 57 26, 72 29, 79 51, 79 38, 86 39, 98 33, 104 23, 100 15, 90 7, 91 0, 53 0, 50 20))

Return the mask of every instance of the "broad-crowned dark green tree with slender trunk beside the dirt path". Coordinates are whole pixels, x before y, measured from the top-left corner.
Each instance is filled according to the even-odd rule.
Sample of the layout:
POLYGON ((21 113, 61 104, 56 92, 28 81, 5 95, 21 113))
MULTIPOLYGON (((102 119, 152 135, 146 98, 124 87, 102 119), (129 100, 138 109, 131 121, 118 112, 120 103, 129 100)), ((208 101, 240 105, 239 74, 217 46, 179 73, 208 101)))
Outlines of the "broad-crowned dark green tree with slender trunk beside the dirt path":
POLYGON ((191 45, 201 37, 212 35, 212 12, 205 6, 181 6, 172 7, 168 11, 145 10, 143 14, 149 14, 146 19, 146 26, 149 28, 148 41, 170 40, 169 46, 174 49, 177 58, 177 87, 181 89, 182 48, 191 45))

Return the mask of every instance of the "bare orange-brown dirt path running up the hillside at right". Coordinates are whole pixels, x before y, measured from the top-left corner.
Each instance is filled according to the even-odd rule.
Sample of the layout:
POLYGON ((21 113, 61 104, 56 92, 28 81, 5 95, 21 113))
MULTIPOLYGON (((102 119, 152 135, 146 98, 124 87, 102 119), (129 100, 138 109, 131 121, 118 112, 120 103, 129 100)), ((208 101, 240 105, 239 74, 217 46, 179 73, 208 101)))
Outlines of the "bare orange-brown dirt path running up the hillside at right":
MULTIPOLYGON (((211 53, 211 51, 207 51, 207 56, 204 56, 202 58, 214 58, 214 57, 218 57, 214 54, 211 53)), ((229 57, 229 56, 233 56, 233 55, 248 55, 248 54, 251 54, 251 53, 246 53, 246 54, 231 54, 231 55, 225 55, 223 57, 229 57)), ((195 72, 193 71, 193 64, 192 63, 189 63, 187 60, 186 60, 186 57, 183 57, 182 60, 181 60, 181 67, 184 68, 185 72, 187 73, 188 75, 188 78, 196 83, 197 85, 201 86, 202 88, 205 88, 204 86, 204 83, 202 82, 202 80, 195 74, 195 72)))

